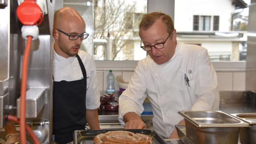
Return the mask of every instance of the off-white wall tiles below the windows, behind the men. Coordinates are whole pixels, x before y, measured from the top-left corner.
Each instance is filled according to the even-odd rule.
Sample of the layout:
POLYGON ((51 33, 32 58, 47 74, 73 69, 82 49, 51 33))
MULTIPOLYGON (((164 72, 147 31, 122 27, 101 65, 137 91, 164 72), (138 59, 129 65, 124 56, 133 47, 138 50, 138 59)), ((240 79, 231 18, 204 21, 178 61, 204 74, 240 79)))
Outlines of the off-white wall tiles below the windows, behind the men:
MULTIPOLYGON (((245 91, 245 72, 216 72, 218 77, 218 89, 220 91, 245 91)), ((131 70, 113 70, 114 76, 120 75, 124 81, 130 81, 133 75, 131 70)), ((97 71, 100 91, 106 91, 106 77, 108 71, 97 71)), ((115 89, 119 91, 118 82, 115 82, 115 89)))

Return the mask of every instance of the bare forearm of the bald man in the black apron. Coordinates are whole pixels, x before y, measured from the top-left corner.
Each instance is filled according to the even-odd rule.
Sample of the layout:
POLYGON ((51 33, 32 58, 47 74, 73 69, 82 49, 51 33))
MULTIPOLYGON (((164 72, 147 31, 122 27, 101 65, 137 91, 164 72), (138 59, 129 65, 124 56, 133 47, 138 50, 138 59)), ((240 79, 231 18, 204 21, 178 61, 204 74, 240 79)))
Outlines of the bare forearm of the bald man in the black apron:
POLYGON ((88 125, 92 130, 100 130, 98 110, 88 110, 86 109, 86 120, 88 125))

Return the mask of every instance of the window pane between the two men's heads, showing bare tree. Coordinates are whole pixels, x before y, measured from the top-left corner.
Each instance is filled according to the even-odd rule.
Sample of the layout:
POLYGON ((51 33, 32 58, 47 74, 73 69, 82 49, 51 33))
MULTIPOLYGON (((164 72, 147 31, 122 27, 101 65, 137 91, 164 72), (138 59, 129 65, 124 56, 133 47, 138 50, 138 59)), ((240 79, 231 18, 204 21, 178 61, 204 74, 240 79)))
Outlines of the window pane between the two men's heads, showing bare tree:
POLYGON ((105 40, 105 44, 94 42, 94 59, 145 58, 138 28, 147 13, 147 0, 98 0, 94 3, 94 41, 105 40))

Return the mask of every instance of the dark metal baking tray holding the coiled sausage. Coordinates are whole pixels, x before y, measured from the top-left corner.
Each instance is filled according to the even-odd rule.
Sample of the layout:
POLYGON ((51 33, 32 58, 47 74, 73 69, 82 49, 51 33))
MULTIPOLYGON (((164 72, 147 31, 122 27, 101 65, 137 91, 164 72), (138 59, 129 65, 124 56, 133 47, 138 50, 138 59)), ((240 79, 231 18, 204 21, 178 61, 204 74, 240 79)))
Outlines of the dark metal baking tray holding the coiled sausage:
POLYGON ((113 130, 126 130, 133 133, 146 134, 153 138, 153 144, 167 144, 162 136, 154 132, 154 130, 148 129, 76 130, 74 131, 74 144, 93 144, 94 136, 113 130))

